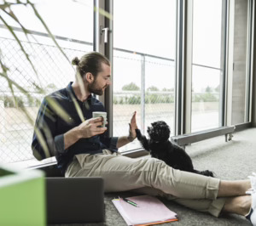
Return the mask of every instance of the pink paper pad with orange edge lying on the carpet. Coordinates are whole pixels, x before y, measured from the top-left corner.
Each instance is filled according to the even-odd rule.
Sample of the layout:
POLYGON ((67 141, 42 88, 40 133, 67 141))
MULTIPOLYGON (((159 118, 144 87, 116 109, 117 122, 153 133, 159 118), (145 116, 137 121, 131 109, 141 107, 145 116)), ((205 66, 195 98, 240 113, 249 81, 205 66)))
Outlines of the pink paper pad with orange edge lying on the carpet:
POLYGON ((177 221, 177 214, 154 196, 138 195, 127 199, 136 203, 137 206, 131 205, 122 198, 112 200, 127 225, 151 225, 177 221))

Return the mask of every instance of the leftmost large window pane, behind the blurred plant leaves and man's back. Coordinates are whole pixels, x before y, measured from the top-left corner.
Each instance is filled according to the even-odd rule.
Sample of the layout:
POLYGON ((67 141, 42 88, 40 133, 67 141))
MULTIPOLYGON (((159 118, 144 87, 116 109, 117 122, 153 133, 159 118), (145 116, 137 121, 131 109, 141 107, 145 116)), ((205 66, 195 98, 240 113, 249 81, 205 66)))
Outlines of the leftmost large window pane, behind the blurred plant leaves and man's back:
MULTIPOLYGON (((68 82, 74 80, 74 69, 69 63, 71 59, 92 50, 93 1, 34 2, 52 34, 58 36, 56 41, 67 54, 68 60, 61 54, 60 49, 56 48, 55 43, 42 34, 47 31, 32 12, 31 7, 13 8, 20 22, 27 29, 42 33, 34 32, 33 37, 29 35, 27 40, 22 32, 15 30, 38 73, 36 75, 15 38, 7 29, 0 28, 0 48, 3 57, 1 60, 9 68, 9 78, 25 88, 32 96, 28 98, 15 87, 17 97, 15 103, 8 82, 3 77, 0 78, 0 161, 4 162, 34 160, 31 150, 33 124, 29 122, 21 108, 25 107, 34 121, 44 95, 64 88, 68 82), (44 88, 46 93, 41 93, 35 84, 44 88)), ((10 25, 20 27, 6 15, 4 16, 10 25)))

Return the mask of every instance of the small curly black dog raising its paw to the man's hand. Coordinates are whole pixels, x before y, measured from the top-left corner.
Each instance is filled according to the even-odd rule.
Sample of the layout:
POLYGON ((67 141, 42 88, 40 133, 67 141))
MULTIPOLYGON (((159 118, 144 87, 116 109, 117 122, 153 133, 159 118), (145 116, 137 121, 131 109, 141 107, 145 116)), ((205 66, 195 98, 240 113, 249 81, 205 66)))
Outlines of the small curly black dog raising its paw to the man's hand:
POLYGON ((211 171, 195 170, 191 158, 185 150, 176 144, 172 144, 169 140, 170 127, 165 121, 155 121, 151 125, 152 127, 148 127, 149 139, 143 136, 139 129, 136 129, 136 133, 137 139, 143 145, 143 148, 150 152, 152 157, 165 161, 168 166, 175 169, 214 177, 211 171))

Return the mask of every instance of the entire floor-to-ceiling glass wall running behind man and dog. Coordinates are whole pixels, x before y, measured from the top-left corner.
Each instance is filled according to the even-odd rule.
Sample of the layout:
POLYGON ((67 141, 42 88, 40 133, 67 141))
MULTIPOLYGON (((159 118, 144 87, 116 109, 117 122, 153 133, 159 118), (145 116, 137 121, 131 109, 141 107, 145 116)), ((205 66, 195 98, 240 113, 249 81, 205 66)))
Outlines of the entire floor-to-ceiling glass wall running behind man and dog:
MULTIPOLYGON (((44 25, 31 7, 12 8, 26 29, 32 31, 28 39, 20 25, 0 11, 9 25, 14 26, 37 71, 34 72, 19 44, 0 21, 1 60, 9 68, 9 78, 32 96, 27 98, 14 87, 15 102, 9 83, 0 77, 0 161, 5 162, 34 161, 33 123, 22 109, 34 121, 44 95, 74 80, 71 59, 92 51, 96 40, 93 1, 66 0, 61 7, 59 0, 33 3, 67 58, 46 35, 44 25), (37 85, 44 88, 44 93, 37 85)), ((186 133, 250 121, 252 3, 252 0, 113 0, 113 31, 108 33, 113 36, 113 136, 128 134, 134 111, 138 127, 145 135, 150 123, 160 120, 168 123, 172 135, 178 135, 174 122, 179 114, 176 126, 184 127, 181 131, 186 133), (183 4, 189 5, 184 7, 186 10, 177 10, 183 4), (184 40, 177 37, 177 24, 183 25, 177 34, 186 34, 184 40), (176 38, 181 43, 178 48, 176 38), (176 55, 182 56, 178 62, 176 55), (180 111, 175 116, 176 109, 180 111)), ((140 148, 135 140, 120 151, 140 148)))

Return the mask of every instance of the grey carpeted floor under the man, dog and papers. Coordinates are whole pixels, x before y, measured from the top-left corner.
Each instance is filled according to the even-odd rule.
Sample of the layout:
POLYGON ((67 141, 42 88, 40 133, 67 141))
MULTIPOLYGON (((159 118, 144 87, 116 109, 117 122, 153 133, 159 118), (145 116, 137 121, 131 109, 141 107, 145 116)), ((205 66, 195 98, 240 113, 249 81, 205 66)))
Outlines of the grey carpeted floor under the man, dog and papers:
MULTIPOLYGON (((210 169, 221 179, 245 179, 252 172, 256 172, 256 128, 234 133, 230 142, 225 142, 224 136, 207 139, 205 141, 192 144, 186 148, 192 157, 194 166, 198 170, 210 169)), ((105 195, 106 219, 104 223, 85 223, 69 225, 126 225, 113 206, 111 200, 118 195, 134 195, 131 192, 114 193, 105 195)), ((161 225, 252 225, 247 219, 235 214, 224 215, 214 218, 203 212, 195 212, 184 206, 179 206, 172 201, 163 201, 172 211, 177 212, 178 222, 164 223, 161 225)), ((57 225, 57 224, 55 224, 57 225)), ((58 224, 64 225, 64 224, 58 224)))

